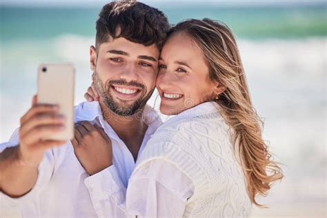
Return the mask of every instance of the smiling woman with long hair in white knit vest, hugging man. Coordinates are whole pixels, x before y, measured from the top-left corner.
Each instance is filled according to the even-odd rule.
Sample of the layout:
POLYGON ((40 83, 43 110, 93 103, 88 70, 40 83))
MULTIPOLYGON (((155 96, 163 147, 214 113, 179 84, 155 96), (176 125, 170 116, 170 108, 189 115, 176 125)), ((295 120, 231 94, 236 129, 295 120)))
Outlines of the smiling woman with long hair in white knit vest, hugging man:
POLYGON ((177 116, 148 141, 127 190, 111 184, 115 191, 99 200, 103 215, 248 217, 282 173, 262 139, 230 29, 210 19, 178 23, 156 85, 160 111, 177 116))

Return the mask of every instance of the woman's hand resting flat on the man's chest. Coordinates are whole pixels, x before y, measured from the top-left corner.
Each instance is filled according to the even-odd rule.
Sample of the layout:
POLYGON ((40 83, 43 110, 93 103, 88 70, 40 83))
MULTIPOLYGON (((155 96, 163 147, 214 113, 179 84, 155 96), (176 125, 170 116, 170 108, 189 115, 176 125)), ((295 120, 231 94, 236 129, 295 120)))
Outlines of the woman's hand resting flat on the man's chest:
POLYGON ((87 121, 75 124, 72 139, 75 155, 89 175, 94 175, 112 165, 112 144, 104 130, 87 121))

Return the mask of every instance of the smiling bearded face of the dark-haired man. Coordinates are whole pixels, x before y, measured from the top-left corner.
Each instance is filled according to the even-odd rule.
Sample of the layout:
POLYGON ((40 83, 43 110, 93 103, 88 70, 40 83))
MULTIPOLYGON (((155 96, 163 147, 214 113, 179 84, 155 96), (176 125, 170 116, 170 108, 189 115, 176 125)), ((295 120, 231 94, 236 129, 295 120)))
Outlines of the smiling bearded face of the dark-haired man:
POLYGON ((100 101, 117 115, 134 115, 155 89, 159 50, 122 37, 91 46, 91 68, 100 101))

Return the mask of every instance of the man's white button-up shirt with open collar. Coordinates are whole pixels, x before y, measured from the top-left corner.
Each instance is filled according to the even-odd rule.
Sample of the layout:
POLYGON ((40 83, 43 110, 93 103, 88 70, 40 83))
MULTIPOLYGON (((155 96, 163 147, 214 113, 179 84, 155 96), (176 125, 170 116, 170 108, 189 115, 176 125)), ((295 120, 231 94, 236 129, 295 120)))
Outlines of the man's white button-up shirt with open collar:
MULTIPOLYGON (((144 109, 144 115, 148 130, 139 154, 150 136, 161 125, 159 115, 149 106, 144 109)), ((112 141, 112 162, 117 169, 117 177, 121 184, 127 187, 135 161, 126 144, 104 121, 99 103, 83 102, 76 106, 75 121, 97 123, 105 130, 112 141)), ((0 144, 0 152, 17 144, 19 144, 18 129, 14 131, 10 141, 0 144)), ((0 217, 1 210, 10 210, 10 208, 21 210, 23 217, 97 217, 101 212, 95 211, 92 205, 89 193, 89 190, 92 192, 92 187, 88 189, 84 183, 88 177, 88 173, 75 156, 70 141, 63 146, 47 150, 39 165, 37 182, 30 192, 14 199, 0 192, 0 217)))

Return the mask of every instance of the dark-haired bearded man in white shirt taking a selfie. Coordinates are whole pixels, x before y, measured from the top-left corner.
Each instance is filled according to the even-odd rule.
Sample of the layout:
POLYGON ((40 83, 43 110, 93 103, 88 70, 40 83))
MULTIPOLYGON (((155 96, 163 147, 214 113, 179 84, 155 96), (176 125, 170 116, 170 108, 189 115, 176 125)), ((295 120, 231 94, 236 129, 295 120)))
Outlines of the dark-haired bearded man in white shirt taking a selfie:
POLYGON ((101 214, 93 206, 96 197, 90 198, 94 186, 90 181, 97 181, 92 175, 110 165, 106 159, 111 147, 103 146, 96 153, 79 152, 82 139, 92 141, 99 132, 103 140, 110 138, 112 162, 127 186, 137 155, 161 124, 146 101, 155 88, 159 52, 168 28, 164 14, 143 3, 117 1, 103 6, 96 45, 90 47, 99 103, 85 102, 75 108, 75 139, 62 145, 65 142, 41 138, 63 130, 64 117, 56 106, 37 104, 33 98, 19 130, 0 145, 1 207, 21 205, 23 216, 28 217, 101 214), (102 165, 91 168, 89 161, 102 165))

